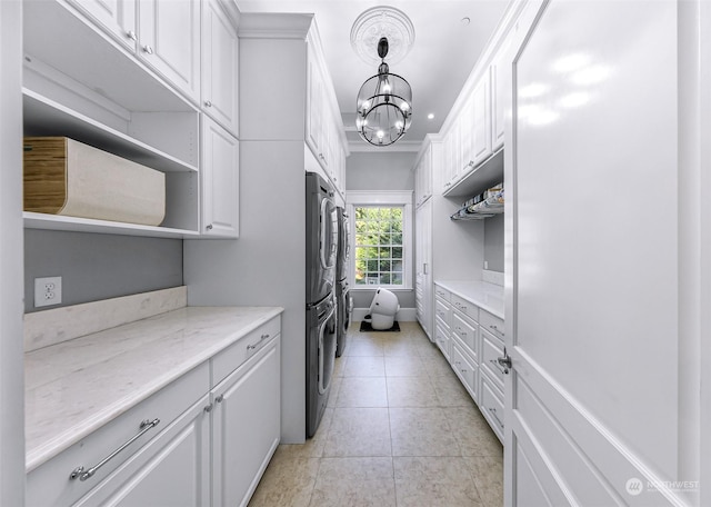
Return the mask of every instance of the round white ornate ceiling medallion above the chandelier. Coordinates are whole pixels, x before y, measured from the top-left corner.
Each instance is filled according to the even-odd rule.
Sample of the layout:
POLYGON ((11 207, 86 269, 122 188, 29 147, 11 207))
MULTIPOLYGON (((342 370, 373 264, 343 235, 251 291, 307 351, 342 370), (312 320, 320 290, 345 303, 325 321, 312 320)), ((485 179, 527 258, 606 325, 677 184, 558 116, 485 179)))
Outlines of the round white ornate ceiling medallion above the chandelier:
POLYGON ((361 13, 351 28, 353 51, 369 66, 377 66, 378 43, 388 39, 388 62, 398 63, 414 43, 414 26, 410 18, 399 9, 378 6, 361 13))

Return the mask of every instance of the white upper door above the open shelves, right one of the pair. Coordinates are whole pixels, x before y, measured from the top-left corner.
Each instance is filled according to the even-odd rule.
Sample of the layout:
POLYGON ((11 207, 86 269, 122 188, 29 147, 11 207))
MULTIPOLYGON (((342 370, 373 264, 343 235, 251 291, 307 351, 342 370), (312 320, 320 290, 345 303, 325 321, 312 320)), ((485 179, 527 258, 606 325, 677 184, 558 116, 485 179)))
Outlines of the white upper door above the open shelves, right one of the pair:
POLYGON ((141 0, 138 46, 148 64, 200 100, 200 0, 141 0))

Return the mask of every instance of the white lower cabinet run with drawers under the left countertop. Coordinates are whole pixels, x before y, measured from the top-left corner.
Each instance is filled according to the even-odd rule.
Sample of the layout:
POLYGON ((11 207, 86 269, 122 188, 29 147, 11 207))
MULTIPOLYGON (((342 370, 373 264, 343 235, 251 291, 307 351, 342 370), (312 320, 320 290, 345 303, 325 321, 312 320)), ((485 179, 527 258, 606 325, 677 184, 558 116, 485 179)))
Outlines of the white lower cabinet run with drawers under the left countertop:
POLYGON ((280 439, 280 350, 277 317, 31 470, 26 506, 246 506, 280 439))

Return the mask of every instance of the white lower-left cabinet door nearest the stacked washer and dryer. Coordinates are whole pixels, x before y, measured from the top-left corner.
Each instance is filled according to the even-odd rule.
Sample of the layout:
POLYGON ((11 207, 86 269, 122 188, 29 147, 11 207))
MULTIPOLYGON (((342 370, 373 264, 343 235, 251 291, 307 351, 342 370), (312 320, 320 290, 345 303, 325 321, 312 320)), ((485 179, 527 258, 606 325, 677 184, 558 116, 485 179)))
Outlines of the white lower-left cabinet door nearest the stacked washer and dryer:
POLYGON ((212 390, 212 505, 246 506, 277 449, 280 337, 212 390))

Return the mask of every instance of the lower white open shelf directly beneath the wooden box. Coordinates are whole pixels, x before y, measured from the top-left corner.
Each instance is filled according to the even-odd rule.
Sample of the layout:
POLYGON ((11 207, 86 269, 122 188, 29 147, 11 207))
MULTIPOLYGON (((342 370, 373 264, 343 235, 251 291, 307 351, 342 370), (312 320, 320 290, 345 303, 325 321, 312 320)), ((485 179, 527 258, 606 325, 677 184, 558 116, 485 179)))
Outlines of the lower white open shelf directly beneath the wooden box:
POLYGON ((28 229, 64 230, 74 232, 97 232, 104 235, 146 236, 151 238, 186 238, 199 236, 197 230, 173 229, 169 227, 141 226, 138 223, 93 220, 89 218, 62 217, 59 215, 22 213, 28 229))

